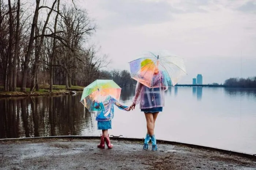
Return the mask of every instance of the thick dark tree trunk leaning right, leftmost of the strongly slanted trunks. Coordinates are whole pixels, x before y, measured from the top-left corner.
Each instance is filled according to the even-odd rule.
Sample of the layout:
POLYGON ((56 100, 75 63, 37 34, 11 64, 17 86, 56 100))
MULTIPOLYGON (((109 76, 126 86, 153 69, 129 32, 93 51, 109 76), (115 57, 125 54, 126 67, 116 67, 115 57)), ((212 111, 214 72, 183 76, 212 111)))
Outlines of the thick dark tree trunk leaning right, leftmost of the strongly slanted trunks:
POLYGON ((35 33, 35 27, 37 25, 37 20, 38 20, 39 3, 40 3, 40 0, 36 0, 35 13, 33 17, 33 23, 31 25, 29 46, 27 48, 27 54, 25 56, 25 63, 24 63, 23 74, 22 74, 22 87, 20 88, 20 91, 22 92, 26 91, 27 72, 29 71, 29 62, 30 62, 30 57, 33 50, 34 33, 35 33))

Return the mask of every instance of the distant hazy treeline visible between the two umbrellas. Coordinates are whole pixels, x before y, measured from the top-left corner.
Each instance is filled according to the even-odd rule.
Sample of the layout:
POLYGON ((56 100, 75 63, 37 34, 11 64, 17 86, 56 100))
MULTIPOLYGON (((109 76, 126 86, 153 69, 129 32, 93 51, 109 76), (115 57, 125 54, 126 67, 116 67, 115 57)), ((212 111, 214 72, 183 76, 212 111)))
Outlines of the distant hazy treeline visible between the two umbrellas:
POLYGON ((127 70, 112 70, 99 72, 98 79, 114 80, 120 87, 131 87, 136 85, 136 80, 131 78, 127 70))

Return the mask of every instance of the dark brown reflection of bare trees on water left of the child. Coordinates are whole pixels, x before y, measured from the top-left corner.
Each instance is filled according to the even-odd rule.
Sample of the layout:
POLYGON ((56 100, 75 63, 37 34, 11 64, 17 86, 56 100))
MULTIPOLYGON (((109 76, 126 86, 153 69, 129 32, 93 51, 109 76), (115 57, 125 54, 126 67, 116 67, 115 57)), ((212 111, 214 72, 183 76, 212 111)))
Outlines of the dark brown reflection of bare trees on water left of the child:
POLYGON ((90 131, 92 116, 81 114, 80 96, 3 98, 0 138, 78 135, 90 131))

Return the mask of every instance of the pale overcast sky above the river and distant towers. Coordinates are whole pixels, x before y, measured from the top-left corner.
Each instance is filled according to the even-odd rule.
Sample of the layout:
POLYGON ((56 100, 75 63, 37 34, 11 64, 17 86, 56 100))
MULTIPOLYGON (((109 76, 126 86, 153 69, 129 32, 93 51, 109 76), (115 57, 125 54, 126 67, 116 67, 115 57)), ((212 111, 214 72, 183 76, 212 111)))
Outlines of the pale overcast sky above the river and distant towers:
POLYGON ((79 0, 98 25, 94 43, 127 69, 142 51, 185 59, 192 83, 256 76, 256 0, 79 0))

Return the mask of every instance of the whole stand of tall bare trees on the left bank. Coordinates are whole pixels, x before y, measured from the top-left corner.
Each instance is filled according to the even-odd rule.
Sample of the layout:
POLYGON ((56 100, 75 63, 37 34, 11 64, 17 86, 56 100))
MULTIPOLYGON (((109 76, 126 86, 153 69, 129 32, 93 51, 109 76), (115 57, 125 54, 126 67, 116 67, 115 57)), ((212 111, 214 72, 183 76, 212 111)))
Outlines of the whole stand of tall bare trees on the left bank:
POLYGON ((75 1, 0 0, 0 86, 86 86, 108 65, 90 42, 96 24, 75 1), (71 2, 71 3, 70 3, 71 2))

